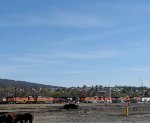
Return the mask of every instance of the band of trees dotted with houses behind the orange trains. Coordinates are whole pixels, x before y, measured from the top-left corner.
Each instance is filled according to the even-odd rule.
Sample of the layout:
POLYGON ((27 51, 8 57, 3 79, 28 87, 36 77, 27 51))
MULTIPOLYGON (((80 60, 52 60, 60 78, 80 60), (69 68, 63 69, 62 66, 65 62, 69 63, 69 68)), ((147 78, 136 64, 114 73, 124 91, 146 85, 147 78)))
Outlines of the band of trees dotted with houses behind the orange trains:
POLYGON ((105 96, 109 97, 139 97, 139 96, 150 96, 150 88, 147 87, 132 87, 132 86, 115 86, 115 87, 104 87, 102 85, 96 85, 88 87, 86 85, 82 87, 13 87, 0 88, 0 97, 93 97, 93 96, 105 96))

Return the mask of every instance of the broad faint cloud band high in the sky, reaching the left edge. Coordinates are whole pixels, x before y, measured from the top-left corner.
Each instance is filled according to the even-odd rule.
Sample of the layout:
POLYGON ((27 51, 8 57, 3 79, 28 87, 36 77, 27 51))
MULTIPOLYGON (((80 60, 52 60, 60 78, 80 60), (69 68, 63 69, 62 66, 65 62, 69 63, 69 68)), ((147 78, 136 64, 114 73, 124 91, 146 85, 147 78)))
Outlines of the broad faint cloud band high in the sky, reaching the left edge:
POLYGON ((1 26, 61 26, 61 27, 112 27, 109 19, 101 18, 88 13, 67 12, 56 10, 45 12, 43 15, 35 14, 8 14, 3 15, 1 26))

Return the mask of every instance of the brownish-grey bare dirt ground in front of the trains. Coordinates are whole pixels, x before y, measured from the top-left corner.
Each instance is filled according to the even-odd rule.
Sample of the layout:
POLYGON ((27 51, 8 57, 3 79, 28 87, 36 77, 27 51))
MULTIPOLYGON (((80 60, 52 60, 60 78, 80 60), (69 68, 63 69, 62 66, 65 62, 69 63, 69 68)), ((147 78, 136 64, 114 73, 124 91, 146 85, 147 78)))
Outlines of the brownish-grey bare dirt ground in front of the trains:
POLYGON ((33 123, 149 123, 150 104, 78 104, 79 109, 62 109, 64 104, 0 105, 0 112, 30 112, 33 123))

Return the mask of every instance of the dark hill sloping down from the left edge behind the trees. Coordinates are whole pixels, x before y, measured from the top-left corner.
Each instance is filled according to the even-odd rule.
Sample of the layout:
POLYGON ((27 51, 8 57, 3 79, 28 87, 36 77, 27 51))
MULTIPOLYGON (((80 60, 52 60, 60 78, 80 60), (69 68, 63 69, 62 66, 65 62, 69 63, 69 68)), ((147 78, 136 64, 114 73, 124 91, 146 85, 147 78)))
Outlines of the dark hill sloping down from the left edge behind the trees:
POLYGON ((9 79, 0 79, 0 88, 7 88, 7 87, 14 87, 14 88, 58 88, 58 86, 53 85, 44 85, 38 83, 31 83, 26 81, 15 81, 9 79))

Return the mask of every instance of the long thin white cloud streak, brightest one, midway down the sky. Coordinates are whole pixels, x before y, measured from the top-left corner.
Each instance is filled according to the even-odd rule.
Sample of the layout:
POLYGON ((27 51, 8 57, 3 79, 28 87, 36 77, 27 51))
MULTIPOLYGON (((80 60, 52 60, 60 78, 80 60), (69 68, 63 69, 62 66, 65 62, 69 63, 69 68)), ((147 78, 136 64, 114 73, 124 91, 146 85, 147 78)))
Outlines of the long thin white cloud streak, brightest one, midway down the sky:
POLYGON ((56 52, 47 54, 28 54, 20 57, 12 57, 10 60, 23 63, 61 63, 69 59, 107 59, 121 56, 119 51, 91 51, 91 52, 56 52))

